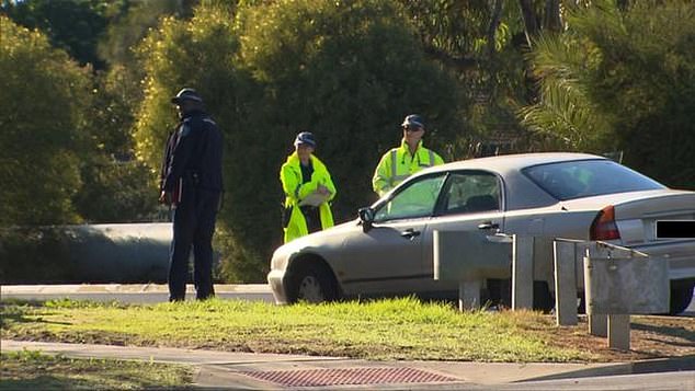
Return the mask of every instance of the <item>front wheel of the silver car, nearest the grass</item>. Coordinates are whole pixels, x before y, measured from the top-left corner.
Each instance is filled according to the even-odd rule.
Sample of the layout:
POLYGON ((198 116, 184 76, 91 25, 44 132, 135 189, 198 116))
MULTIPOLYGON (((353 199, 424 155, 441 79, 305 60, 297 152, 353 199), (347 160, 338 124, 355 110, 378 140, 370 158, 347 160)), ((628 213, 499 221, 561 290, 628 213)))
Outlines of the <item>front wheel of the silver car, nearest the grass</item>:
POLYGON ((338 287, 332 273, 323 265, 300 265, 292 274, 288 299, 290 303, 337 300, 338 287))

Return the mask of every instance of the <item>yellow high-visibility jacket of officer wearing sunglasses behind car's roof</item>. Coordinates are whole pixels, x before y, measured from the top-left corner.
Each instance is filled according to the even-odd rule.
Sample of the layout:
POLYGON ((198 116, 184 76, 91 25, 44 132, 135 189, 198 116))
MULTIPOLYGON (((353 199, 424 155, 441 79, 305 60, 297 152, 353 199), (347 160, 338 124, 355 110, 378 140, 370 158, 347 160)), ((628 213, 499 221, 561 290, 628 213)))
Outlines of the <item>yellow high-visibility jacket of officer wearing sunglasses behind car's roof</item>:
POLYGON ((424 148, 422 140, 418 143, 415 153, 411 154, 403 139, 400 147, 391 149, 381 157, 372 177, 372 187, 380 197, 415 172, 438 164, 444 164, 444 159, 424 148))

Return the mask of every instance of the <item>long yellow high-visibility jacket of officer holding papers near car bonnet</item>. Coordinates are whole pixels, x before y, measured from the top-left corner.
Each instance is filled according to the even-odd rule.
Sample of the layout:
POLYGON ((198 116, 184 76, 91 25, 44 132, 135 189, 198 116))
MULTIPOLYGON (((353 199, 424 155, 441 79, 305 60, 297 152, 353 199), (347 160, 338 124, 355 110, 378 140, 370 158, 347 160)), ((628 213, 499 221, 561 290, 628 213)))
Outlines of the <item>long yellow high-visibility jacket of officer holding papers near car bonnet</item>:
POLYGON ((314 173, 311 174, 311 181, 307 183, 303 183, 300 164, 297 152, 294 152, 287 157, 287 161, 280 170, 280 181, 285 192, 285 212, 289 214, 289 219, 285 217, 285 243, 309 233, 307 221, 301 210, 299 210, 299 203, 314 193, 319 185, 326 186, 331 192, 329 199, 319 205, 321 229, 333 227, 333 214, 329 202, 335 197, 335 185, 326 164, 317 157, 311 156, 314 173))

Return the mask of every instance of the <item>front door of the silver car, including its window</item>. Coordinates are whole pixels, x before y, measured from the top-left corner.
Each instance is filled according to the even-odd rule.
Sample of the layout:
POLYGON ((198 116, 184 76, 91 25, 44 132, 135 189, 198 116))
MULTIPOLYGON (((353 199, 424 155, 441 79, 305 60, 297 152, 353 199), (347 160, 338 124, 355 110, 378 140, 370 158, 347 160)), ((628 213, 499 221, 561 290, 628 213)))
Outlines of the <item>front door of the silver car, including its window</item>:
POLYGON ((348 295, 390 296, 417 292, 428 278, 422 239, 446 173, 423 175, 401 185, 374 209, 368 229, 351 234, 343 248, 348 295))

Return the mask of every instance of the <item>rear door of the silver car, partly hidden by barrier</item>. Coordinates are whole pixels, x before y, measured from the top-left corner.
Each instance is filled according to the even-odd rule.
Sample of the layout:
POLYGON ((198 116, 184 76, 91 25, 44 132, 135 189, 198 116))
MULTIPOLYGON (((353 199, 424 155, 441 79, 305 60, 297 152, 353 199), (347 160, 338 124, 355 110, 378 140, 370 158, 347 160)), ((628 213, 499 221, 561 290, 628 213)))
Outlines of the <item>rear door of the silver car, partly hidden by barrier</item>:
MULTIPOLYGON (((422 269, 429 278, 423 280, 422 290, 428 296, 440 296, 442 291, 456 290, 456 280, 433 279, 433 231, 456 230, 493 235, 504 230, 503 182, 494 173, 487 171, 451 172, 443 186, 442 195, 433 218, 423 234, 422 269)), ((480 242, 486 245, 487 242, 480 242)), ((471 249, 471 253, 485 254, 485 249, 471 249)))

